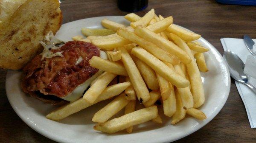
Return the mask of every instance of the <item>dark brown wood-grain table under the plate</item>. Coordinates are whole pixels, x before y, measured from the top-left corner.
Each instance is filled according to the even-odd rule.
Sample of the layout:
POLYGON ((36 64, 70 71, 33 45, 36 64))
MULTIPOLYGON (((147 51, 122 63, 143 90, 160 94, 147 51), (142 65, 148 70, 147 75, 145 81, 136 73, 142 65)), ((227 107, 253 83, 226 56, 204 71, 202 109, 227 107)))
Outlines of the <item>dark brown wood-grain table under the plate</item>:
MULTIPOLYGON (((233 6, 215 0, 149 0, 142 16, 154 8, 157 14, 172 15, 174 22, 207 39, 223 54, 220 38, 256 38, 256 6, 233 6)), ((63 23, 88 17, 125 15, 116 0, 65 0, 61 4, 63 23)), ((6 70, 0 70, 0 143, 53 143, 27 126, 12 109, 5 92, 6 70)), ((256 142, 256 132, 250 128, 244 104, 231 80, 230 95, 219 114, 202 129, 177 140, 188 142, 256 142)))

